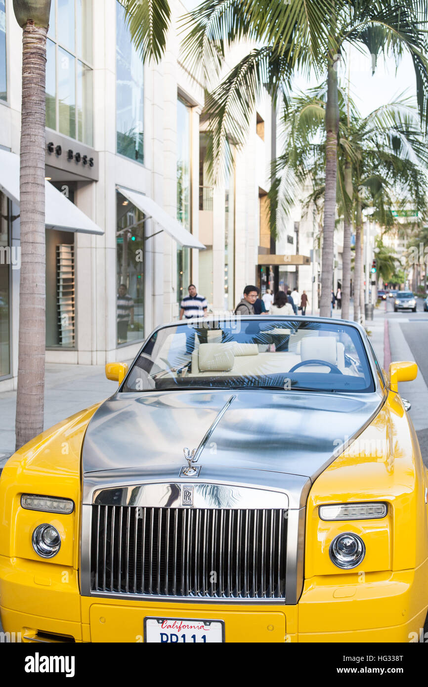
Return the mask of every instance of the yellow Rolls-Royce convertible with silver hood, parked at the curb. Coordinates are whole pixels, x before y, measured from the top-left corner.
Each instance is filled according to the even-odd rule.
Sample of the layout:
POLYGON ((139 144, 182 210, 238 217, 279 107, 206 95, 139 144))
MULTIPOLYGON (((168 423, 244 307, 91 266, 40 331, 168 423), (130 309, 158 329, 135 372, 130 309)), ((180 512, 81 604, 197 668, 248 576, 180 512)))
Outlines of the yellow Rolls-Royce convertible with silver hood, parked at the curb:
POLYGON ((0 478, 0 610, 25 642, 409 642, 428 475, 358 324, 157 328, 104 403, 0 478))

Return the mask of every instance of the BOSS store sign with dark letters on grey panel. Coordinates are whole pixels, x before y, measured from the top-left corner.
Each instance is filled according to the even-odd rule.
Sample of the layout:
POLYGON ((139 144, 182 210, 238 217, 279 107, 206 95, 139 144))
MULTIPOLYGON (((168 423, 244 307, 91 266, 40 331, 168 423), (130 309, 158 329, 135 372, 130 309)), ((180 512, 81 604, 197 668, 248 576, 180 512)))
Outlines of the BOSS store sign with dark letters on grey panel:
POLYGON ((56 131, 46 130, 45 164, 76 177, 98 181, 98 153, 56 131))

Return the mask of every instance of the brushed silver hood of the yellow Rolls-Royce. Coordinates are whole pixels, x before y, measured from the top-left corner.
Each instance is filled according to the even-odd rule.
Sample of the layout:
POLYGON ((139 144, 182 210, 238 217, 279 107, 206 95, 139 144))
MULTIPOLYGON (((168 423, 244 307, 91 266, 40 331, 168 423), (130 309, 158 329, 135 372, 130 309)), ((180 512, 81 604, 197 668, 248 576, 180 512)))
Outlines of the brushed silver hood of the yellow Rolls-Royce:
MULTIPOLYGON (((183 448, 201 449, 194 482, 306 490, 383 404, 373 394, 272 390, 116 394, 91 419, 82 449, 90 490, 115 482, 185 482, 183 448), (234 396, 232 403, 227 405, 234 396), (218 420, 222 409, 225 412, 218 420), (216 423, 218 420, 218 424, 216 423), (297 483, 300 485, 298 486, 297 483)), ((87 490, 84 490, 87 491, 87 490)), ((84 495, 85 496, 85 495, 84 495)))

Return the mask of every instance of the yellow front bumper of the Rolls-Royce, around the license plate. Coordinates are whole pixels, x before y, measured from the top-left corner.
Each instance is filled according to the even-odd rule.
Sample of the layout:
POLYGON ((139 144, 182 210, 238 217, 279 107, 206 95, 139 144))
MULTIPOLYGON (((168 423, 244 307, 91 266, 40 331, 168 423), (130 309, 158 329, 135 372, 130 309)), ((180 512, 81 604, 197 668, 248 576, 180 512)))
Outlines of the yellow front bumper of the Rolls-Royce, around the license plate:
POLYGON ((293 606, 177 604, 80 596, 75 570, 0 556, 0 613, 23 642, 143 642, 145 616, 224 620, 226 642, 409 642, 427 616, 427 578, 425 561, 361 582, 311 578, 293 606))

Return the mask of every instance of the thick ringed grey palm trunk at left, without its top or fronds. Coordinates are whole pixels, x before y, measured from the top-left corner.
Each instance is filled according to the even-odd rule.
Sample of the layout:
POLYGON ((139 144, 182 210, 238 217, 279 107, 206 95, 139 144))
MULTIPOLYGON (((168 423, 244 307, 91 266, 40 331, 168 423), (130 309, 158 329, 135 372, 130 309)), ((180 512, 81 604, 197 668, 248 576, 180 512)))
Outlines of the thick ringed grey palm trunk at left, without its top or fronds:
POLYGON ((43 431, 45 396, 45 73, 47 29, 23 29, 21 278, 16 449, 43 431))

